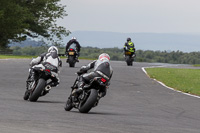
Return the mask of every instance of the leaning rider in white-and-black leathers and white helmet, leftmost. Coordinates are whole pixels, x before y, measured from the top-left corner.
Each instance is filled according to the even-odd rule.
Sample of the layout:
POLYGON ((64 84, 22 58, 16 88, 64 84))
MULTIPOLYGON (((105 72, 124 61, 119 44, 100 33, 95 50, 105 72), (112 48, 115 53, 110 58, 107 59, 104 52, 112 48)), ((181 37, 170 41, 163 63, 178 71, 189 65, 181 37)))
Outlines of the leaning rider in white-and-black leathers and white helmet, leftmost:
POLYGON ((59 67, 62 66, 62 61, 60 60, 60 57, 58 57, 58 49, 55 46, 51 46, 48 49, 47 53, 43 53, 37 58, 33 59, 30 62, 30 73, 29 77, 27 79, 27 82, 33 82, 37 76, 37 69, 45 69, 44 64, 49 63, 53 66, 55 66, 58 70, 58 72, 52 72, 55 77, 53 77, 51 82, 48 83, 47 86, 50 87, 55 87, 59 84, 59 78, 58 78, 58 73, 59 73, 59 67))

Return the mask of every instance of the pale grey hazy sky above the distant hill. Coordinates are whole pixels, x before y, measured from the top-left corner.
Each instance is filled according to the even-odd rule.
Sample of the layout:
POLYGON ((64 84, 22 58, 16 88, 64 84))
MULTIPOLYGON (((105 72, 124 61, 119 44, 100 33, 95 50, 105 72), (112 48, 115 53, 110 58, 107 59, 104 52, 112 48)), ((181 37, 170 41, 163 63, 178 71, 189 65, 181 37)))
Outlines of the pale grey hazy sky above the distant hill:
POLYGON ((200 33, 200 0, 61 0, 70 31, 200 33))

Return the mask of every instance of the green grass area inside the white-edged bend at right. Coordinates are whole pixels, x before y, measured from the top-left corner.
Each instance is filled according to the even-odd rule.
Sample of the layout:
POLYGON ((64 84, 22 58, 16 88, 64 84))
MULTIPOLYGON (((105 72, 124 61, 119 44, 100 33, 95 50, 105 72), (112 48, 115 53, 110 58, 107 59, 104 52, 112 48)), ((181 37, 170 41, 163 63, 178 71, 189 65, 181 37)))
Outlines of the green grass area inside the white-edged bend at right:
POLYGON ((182 92, 200 96, 200 70, 177 68, 146 68, 150 78, 182 92))

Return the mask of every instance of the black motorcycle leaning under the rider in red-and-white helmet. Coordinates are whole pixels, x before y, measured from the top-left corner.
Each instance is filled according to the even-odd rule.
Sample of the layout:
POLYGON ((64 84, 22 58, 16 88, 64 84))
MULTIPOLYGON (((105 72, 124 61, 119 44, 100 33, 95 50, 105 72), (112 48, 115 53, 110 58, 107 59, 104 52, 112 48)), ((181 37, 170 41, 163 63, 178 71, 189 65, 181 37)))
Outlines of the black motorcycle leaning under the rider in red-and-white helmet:
MULTIPOLYGON (((74 82, 72 91, 78 88, 80 76, 74 82)), ((103 90, 108 86, 108 79, 102 77, 95 77, 89 84, 83 87, 81 94, 71 94, 66 101, 65 110, 70 111, 72 108, 76 108, 81 113, 88 113, 93 107, 98 105, 100 98, 102 97, 103 90)))

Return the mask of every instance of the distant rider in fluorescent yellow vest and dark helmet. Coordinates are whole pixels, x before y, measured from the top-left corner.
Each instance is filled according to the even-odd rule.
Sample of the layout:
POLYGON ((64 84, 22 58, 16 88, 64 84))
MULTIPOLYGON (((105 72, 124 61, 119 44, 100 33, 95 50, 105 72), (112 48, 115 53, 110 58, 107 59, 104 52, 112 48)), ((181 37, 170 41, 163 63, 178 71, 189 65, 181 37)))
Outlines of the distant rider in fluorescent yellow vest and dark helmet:
POLYGON ((131 57, 135 57, 135 46, 134 46, 134 43, 131 41, 131 38, 128 37, 127 38, 127 42, 124 44, 124 53, 126 51, 129 51, 131 52, 131 57))

